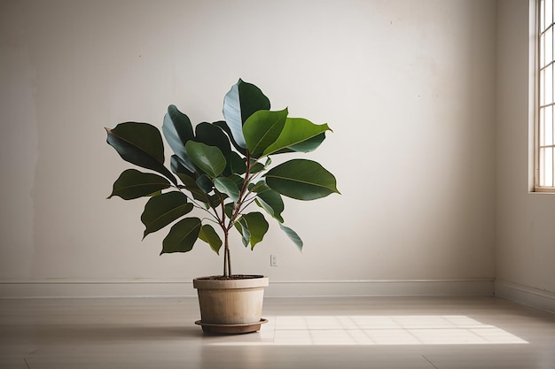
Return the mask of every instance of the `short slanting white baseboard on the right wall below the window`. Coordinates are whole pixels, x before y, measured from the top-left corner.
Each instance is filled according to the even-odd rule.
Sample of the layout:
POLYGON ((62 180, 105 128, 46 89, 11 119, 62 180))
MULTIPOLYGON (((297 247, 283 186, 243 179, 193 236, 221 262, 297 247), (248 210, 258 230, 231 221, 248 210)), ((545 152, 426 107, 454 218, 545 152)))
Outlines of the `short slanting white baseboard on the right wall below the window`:
POLYGON ((496 280, 495 295, 506 300, 555 313, 555 293, 550 291, 496 280))

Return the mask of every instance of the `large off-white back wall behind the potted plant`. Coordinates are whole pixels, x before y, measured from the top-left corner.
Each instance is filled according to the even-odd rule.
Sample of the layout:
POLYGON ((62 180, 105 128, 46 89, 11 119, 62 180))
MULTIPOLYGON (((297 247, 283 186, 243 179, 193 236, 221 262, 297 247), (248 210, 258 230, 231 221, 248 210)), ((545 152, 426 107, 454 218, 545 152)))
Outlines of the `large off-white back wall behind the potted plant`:
MULTIPOLYGON (((195 122, 222 119, 239 77, 274 108, 330 124, 310 158, 336 174, 342 195, 288 201, 303 253, 274 224, 254 252, 237 241, 234 272, 277 282, 494 277, 494 1, 4 1, 0 17, 5 294, 221 273, 204 244, 159 257, 164 234, 141 242, 143 203, 106 200, 129 165, 104 127, 161 126, 168 104, 195 122)), ((497 200, 540 211, 516 170, 526 175, 498 171, 515 184, 499 186, 497 200)), ((521 218, 507 217, 499 224, 512 238, 521 218)))

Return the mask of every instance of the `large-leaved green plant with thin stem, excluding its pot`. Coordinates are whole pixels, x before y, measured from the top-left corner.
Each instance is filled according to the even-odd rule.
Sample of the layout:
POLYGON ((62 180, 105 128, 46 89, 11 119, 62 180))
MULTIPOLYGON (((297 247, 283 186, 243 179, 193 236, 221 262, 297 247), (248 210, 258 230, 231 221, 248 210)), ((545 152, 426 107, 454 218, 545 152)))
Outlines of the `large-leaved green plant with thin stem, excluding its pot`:
POLYGON ((169 105, 162 125, 174 151, 169 168, 157 127, 125 122, 106 128, 107 142, 123 160, 150 171, 125 170, 108 198, 148 197, 141 215, 143 238, 173 224, 160 255, 190 251, 197 240, 218 254, 223 246, 223 278, 231 278, 231 230, 236 229, 252 250, 269 229, 262 212, 249 205, 258 205, 276 219, 301 250, 299 235, 284 225, 282 196, 315 200, 339 191, 333 174, 316 161, 271 161, 277 155, 316 150, 325 132, 331 131, 327 124, 291 118, 286 108, 271 111, 262 90, 242 80, 224 96, 223 117, 224 121, 202 122, 193 129, 187 115, 169 105), (204 217, 192 215, 198 213, 204 217))

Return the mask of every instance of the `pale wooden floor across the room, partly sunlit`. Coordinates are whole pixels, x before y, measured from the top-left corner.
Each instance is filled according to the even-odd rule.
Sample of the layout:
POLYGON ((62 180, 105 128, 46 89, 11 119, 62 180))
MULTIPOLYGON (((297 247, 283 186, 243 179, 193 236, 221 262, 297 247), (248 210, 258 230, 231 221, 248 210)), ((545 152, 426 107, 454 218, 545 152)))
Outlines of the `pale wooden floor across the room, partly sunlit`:
POLYGON ((555 315, 495 297, 266 298, 203 334, 194 298, 0 299, 0 368, 555 368, 555 315))

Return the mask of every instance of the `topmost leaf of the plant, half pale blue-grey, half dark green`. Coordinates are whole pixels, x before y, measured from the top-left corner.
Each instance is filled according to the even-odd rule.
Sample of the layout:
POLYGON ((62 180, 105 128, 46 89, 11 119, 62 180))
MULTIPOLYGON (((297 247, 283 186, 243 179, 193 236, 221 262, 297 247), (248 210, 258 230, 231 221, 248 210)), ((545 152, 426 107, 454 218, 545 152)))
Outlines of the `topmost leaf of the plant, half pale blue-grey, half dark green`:
POLYGON ((270 100, 252 83, 239 79, 223 98, 223 117, 233 139, 243 149, 246 148, 243 124, 254 111, 259 110, 270 110, 270 100))

